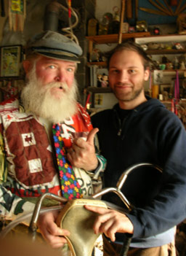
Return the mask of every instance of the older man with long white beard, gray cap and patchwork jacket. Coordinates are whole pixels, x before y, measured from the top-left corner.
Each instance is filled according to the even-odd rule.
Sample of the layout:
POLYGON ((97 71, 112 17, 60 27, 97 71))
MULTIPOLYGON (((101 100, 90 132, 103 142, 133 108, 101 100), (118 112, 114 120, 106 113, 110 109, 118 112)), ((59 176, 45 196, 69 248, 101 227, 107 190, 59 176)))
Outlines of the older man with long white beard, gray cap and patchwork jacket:
MULTIPOLYGON (((91 194, 91 176, 104 165, 94 150, 97 129, 77 103, 74 76, 81 47, 46 31, 29 42, 26 53, 23 106, 17 100, 1 104, 0 209, 1 217, 10 220, 33 210, 32 201, 46 192, 66 198, 91 194), (82 134, 86 141, 79 138, 82 134), (70 174, 62 173, 63 168, 70 174), (76 184, 67 187, 69 175, 76 184)), ((57 227, 56 217, 57 212, 43 214, 38 223, 52 247, 62 246, 62 236, 69 234, 57 227)))

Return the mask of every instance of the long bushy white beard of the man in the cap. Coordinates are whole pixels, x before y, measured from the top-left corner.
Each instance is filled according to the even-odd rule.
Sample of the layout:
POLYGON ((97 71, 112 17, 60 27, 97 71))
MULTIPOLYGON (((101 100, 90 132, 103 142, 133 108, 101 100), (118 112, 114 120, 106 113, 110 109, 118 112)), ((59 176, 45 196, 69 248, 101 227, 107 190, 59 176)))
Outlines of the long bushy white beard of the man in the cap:
POLYGON ((76 79, 71 88, 63 82, 42 85, 42 82, 36 78, 36 68, 33 66, 28 74, 28 83, 22 90, 21 99, 27 111, 52 123, 62 123, 76 113, 77 95, 76 79), (61 98, 52 96, 51 88, 60 87, 62 87, 61 98))

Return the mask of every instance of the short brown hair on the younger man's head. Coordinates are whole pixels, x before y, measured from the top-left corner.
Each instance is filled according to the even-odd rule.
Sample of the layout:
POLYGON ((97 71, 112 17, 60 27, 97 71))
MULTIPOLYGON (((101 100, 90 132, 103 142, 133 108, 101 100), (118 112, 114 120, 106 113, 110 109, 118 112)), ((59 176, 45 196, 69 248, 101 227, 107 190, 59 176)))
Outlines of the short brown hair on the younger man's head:
POLYGON ((140 44, 137 44, 133 41, 128 40, 121 44, 118 44, 115 48, 113 48, 113 50, 110 50, 108 53, 105 53, 105 57, 107 58, 107 62, 108 62, 108 69, 110 64, 110 58, 113 56, 113 54, 123 50, 132 50, 133 52, 138 53, 142 57, 144 69, 147 69, 148 67, 150 67, 151 59, 147 56, 147 53, 145 53, 145 50, 142 49, 140 44))

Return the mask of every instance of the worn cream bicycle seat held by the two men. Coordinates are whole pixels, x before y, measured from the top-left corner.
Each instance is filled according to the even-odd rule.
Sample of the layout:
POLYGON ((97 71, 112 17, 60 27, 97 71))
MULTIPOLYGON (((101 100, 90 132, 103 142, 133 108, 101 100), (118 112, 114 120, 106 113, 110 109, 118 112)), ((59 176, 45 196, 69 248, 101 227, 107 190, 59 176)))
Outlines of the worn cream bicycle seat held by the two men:
POLYGON ((93 230, 94 220, 98 214, 90 212, 84 205, 107 208, 100 200, 73 199, 65 204, 57 217, 57 225, 70 231, 70 236, 65 236, 73 256, 91 256, 94 243, 100 234, 93 230))

